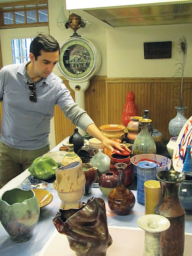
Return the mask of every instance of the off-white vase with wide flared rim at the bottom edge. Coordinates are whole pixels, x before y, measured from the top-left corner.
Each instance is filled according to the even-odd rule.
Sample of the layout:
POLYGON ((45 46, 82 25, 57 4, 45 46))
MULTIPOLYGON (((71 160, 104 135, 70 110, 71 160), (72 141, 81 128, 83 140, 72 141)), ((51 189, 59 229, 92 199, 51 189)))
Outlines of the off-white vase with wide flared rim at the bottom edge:
POLYGON ((137 220, 137 224, 145 230, 143 256, 162 256, 161 233, 170 228, 170 221, 160 215, 148 214, 140 217, 137 220))

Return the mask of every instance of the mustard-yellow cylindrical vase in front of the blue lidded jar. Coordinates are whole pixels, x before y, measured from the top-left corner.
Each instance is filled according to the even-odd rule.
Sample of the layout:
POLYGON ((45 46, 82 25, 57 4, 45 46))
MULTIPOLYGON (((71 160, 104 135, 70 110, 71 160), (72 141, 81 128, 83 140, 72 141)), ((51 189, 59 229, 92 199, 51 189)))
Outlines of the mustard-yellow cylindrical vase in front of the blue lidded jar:
POLYGON ((145 214, 154 214, 155 206, 159 202, 161 186, 158 180, 147 180, 145 187, 145 214))

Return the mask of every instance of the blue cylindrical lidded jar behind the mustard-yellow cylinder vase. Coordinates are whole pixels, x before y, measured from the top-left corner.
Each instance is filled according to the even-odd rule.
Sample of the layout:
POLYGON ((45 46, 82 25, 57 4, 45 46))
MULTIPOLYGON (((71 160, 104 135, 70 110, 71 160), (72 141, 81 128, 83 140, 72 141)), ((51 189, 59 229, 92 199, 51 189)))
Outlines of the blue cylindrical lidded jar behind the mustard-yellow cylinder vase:
POLYGON ((150 161, 141 161, 137 163, 137 201, 145 204, 145 187, 147 180, 156 180, 157 164, 150 161))

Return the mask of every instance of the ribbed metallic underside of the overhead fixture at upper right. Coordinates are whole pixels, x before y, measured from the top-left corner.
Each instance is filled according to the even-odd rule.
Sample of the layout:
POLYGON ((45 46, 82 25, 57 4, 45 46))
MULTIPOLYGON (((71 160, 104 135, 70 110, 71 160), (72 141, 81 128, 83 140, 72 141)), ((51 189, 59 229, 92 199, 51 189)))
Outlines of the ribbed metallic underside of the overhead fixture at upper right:
POLYGON ((86 9, 84 11, 114 28, 192 23, 192 3, 86 9))

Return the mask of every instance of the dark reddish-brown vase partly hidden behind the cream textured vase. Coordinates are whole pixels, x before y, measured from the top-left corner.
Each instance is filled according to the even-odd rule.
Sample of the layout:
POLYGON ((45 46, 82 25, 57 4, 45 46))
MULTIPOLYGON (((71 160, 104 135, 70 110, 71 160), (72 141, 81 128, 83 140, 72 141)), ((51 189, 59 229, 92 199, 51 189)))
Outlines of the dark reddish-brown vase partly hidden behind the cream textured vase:
POLYGON ((86 180, 85 195, 88 195, 91 193, 93 183, 95 180, 95 169, 93 165, 90 163, 82 164, 82 168, 83 168, 85 180, 86 180))

